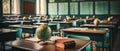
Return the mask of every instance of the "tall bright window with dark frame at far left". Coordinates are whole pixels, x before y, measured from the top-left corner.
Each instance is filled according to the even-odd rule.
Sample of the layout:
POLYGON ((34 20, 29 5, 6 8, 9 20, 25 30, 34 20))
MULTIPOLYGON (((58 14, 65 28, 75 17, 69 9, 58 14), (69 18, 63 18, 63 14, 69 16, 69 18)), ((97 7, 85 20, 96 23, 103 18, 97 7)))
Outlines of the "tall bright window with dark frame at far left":
POLYGON ((14 0, 3 0, 3 14, 12 14, 14 9, 14 0))

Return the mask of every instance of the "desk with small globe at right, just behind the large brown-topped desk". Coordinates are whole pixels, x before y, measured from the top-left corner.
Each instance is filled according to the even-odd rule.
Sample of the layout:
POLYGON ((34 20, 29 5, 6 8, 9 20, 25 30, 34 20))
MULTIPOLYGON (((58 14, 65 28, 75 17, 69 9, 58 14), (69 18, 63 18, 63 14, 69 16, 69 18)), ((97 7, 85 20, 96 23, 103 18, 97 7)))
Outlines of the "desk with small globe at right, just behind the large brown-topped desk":
MULTIPOLYGON (((98 25, 97 27, 94 25, 94 24, 83 24, 83 25, 80 25, 80 27, 88 27, 88 28, 109 28, 110 30, 110 39, 111 39, 111 44, 112 46, 114 45, 114 41, 115 41, 115 36, 117 35, 117 27, 116 25, 107 25, 107 24, 104 24, 104 25, 98 25)), ((111 47, 112 47, 111 46, 111 47)))

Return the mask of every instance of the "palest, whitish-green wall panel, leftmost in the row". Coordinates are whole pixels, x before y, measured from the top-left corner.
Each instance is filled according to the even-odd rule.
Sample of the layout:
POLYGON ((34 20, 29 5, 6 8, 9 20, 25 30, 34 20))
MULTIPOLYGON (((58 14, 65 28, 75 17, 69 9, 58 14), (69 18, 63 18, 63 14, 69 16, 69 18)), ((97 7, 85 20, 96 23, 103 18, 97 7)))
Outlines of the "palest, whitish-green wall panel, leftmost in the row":
POLYGON ((48 3, 48 14, 57 15, 57 3, 48 3))

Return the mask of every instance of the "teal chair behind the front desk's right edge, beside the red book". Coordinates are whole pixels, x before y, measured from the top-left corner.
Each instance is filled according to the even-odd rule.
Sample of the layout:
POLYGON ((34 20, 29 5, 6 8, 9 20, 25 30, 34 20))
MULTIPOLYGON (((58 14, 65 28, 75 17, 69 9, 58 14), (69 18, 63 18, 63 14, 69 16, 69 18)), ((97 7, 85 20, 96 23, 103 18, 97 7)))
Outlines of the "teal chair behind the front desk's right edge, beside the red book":
MULTIPOLYGON (((75 38, 75 39, 81 39, 81 40, 90 40, 87 36, 77 36, 77 35, 67 35, 68 38, 75 38)), ((85 49, 86 51, 91 51, 90 45, 88 45, 85 49)))

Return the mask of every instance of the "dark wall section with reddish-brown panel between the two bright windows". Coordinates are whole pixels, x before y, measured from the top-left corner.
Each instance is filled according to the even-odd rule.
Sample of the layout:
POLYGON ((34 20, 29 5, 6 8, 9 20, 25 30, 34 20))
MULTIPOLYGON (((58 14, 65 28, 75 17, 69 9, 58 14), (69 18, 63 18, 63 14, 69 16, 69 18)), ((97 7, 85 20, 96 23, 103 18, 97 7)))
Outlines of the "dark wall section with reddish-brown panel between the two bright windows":
POLYGON ((21 15, 36 15, 36 0, 21 0, 21 15))

